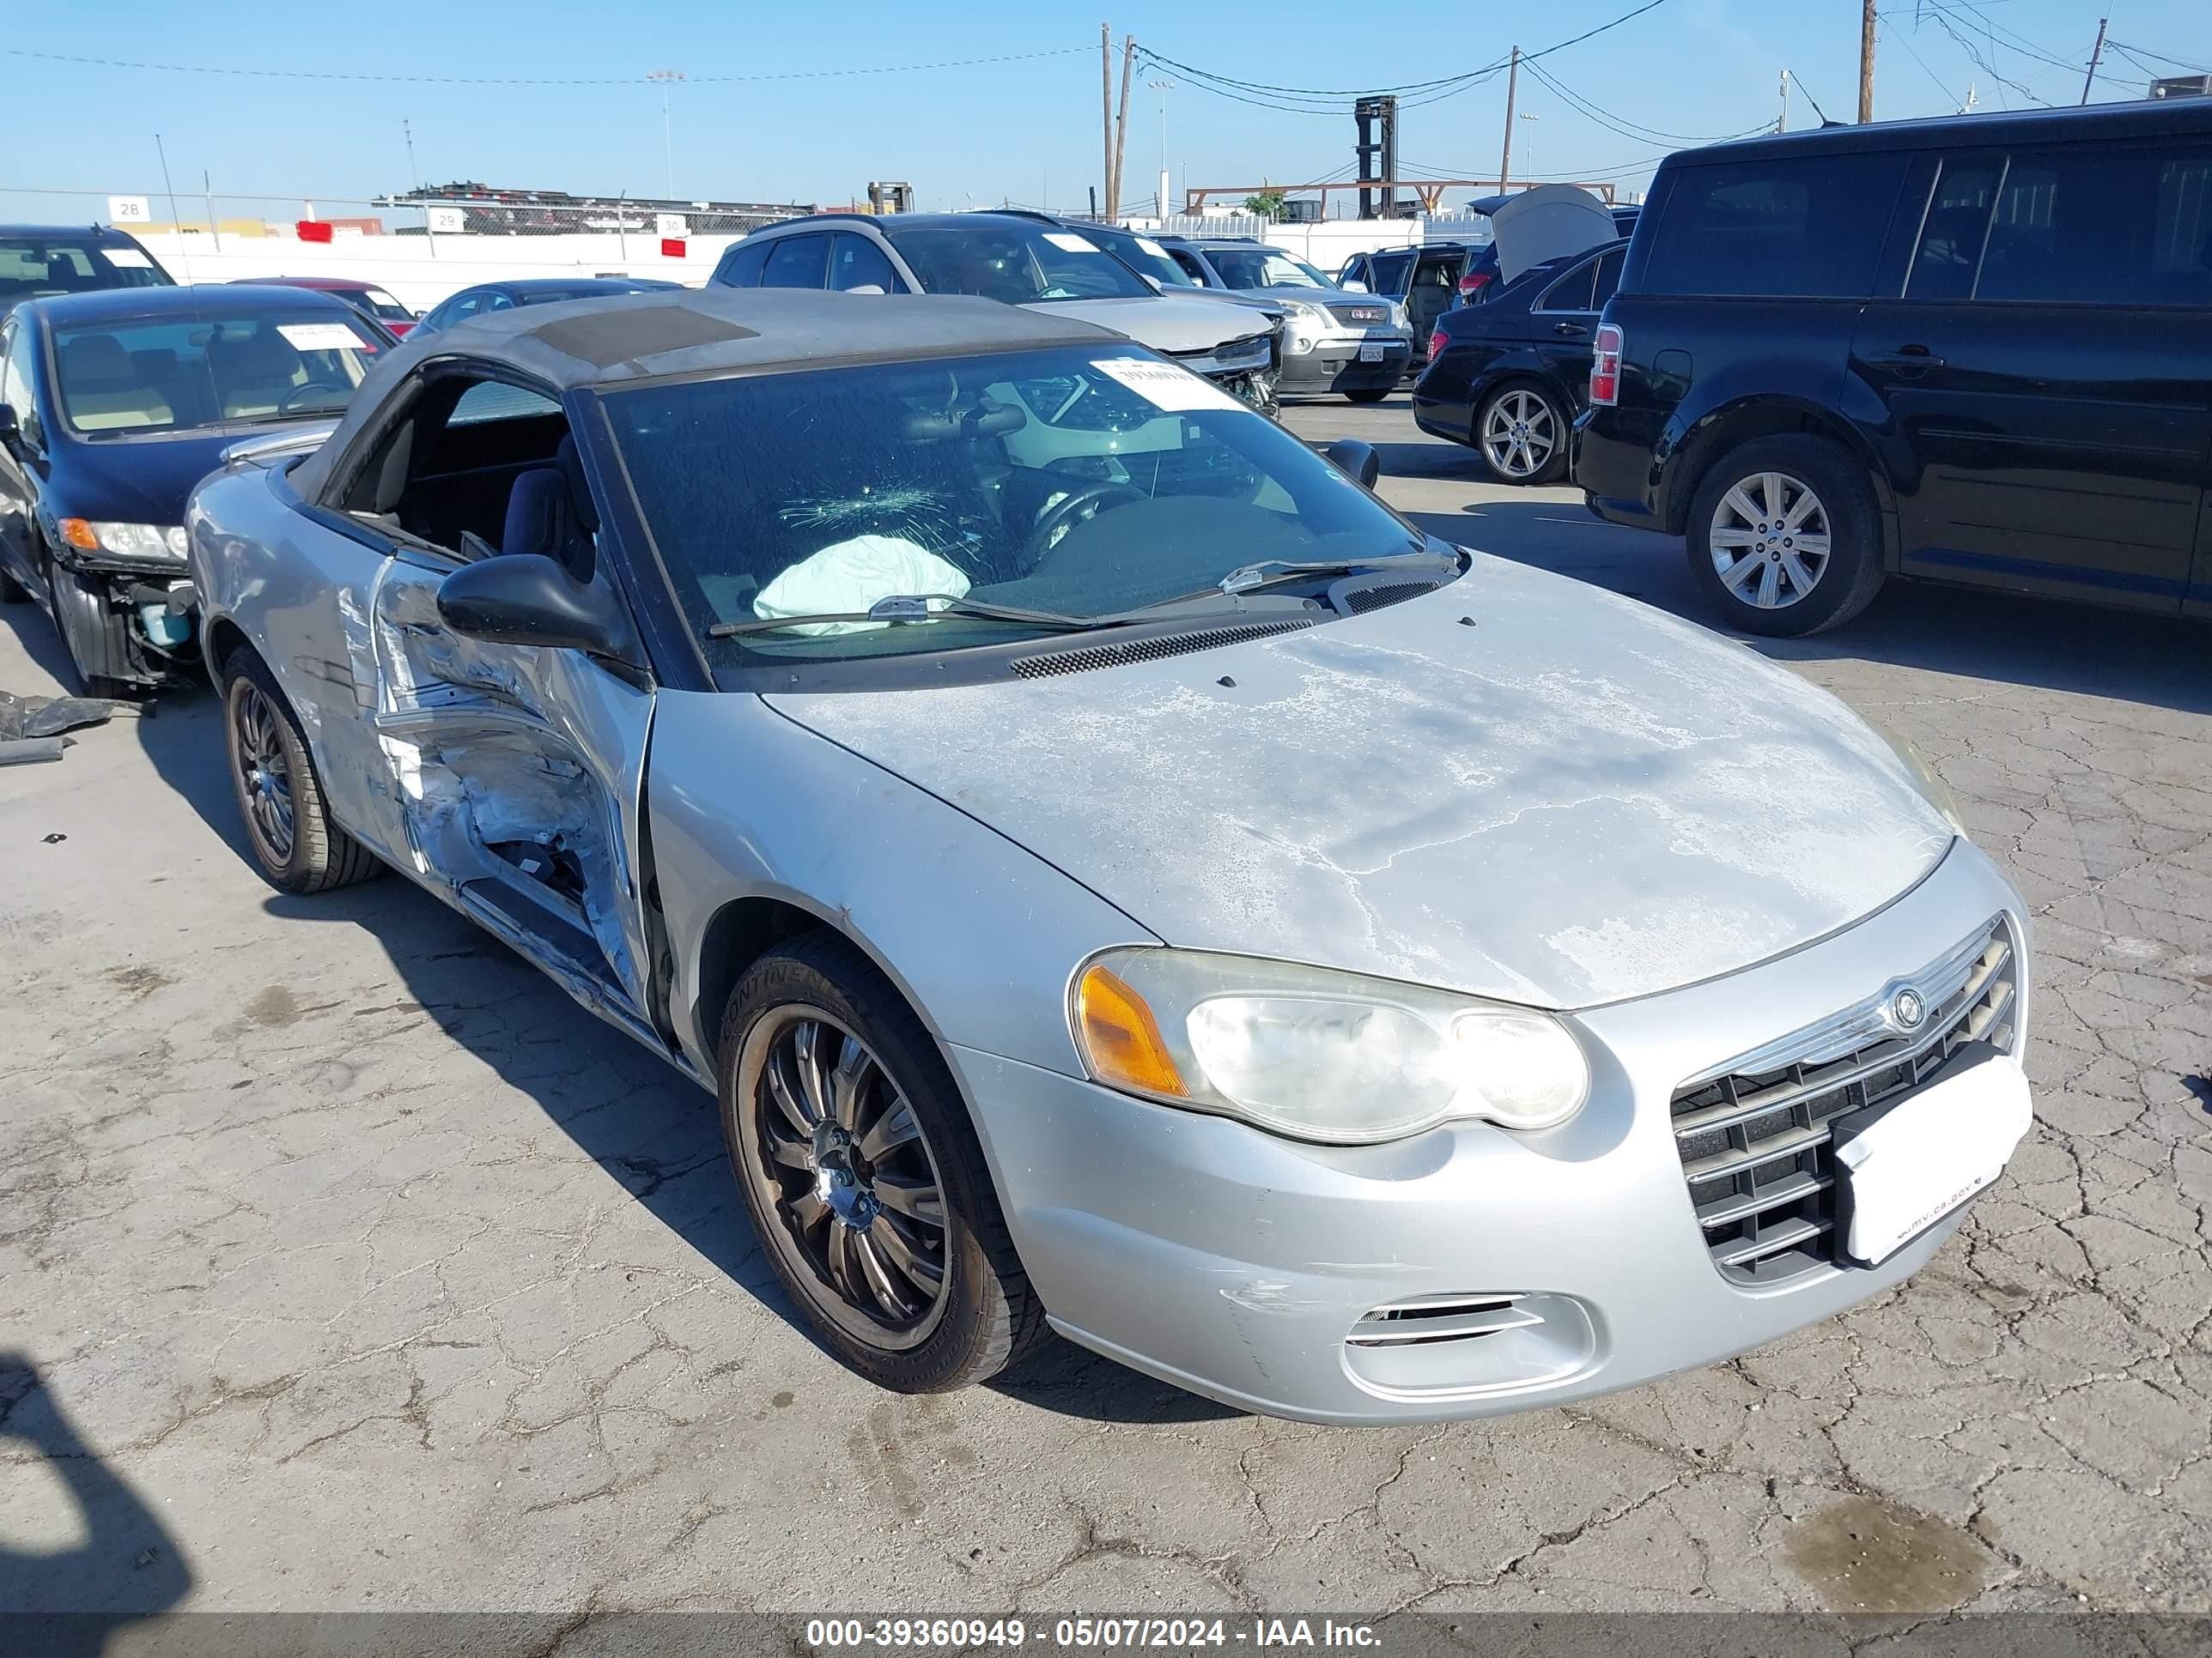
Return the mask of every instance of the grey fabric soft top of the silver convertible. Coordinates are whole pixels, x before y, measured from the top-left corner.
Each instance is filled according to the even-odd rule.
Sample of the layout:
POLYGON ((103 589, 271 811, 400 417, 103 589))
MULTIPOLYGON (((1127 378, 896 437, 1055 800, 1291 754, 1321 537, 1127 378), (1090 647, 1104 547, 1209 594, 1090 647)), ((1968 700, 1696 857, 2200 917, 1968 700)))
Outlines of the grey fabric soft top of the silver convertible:
POLYGON ((345 420, 294 473, 314 495, 334 455, 376 420, 418 363, 500 363, 549 385, 613 387, 668 376, 898 363, 958 351, 1119 340, 1104 327, 964 294, 830 294, 803 287, 706 287, 518 305, 409 338, 369 371, 345 420))

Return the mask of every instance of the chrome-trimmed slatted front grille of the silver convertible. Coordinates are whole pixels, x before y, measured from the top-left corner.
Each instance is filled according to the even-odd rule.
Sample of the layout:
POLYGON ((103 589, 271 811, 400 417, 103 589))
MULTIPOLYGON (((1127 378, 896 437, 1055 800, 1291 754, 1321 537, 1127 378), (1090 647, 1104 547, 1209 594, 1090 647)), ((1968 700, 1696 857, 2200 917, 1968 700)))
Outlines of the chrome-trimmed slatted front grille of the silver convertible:
POLYGON ((1721 1276, 1774 1284, 1836 1260, 1834 1119, 1942 1074, 1962 1043, 2011 1052, 2020 975, 2000 915, 1920 973, 1674 1090, 1674 1147, 1721 1276), (1885 1017, 1900 990, 1916 1030, 1885 1017))

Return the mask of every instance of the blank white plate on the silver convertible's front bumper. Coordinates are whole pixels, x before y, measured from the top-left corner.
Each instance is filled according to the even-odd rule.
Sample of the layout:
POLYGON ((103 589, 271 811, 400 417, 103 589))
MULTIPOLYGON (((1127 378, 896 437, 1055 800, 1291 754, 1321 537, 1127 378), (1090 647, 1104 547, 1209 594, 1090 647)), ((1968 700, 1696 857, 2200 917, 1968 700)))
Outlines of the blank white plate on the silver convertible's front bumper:
POLYGON ((1942 1077, 1836 1147, 1851 1187, 1851 1260, 1878 1267, 2004 1172, 2033 1108, 2020 1061, 1942 1077))

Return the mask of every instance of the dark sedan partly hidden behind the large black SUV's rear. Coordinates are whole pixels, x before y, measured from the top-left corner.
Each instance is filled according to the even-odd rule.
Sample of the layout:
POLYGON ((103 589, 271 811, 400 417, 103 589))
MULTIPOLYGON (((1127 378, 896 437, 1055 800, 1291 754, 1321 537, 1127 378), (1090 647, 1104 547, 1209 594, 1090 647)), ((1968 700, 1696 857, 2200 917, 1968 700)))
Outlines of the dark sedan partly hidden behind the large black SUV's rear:
POLYGON ((1597 314, 1619 287, 1626 248, 1535 265, 1489 305, 1444 312, 1413 382, 1420 429, 1469 444, 1491 482, 1564 478, 1575 416, 1590 396, 1597 314))

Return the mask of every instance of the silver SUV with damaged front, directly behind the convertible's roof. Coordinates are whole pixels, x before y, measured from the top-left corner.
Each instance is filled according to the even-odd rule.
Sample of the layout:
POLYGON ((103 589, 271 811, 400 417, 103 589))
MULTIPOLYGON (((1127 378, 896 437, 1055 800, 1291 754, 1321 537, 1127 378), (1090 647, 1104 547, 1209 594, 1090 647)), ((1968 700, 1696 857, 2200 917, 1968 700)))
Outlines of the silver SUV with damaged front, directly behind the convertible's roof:
POLYGON ((754 230, 708 285, 978 294, 1110 327, 1274 413, 1265 312, 1159 294, 1079 230, 1015 212, 821 212, 754 230))

